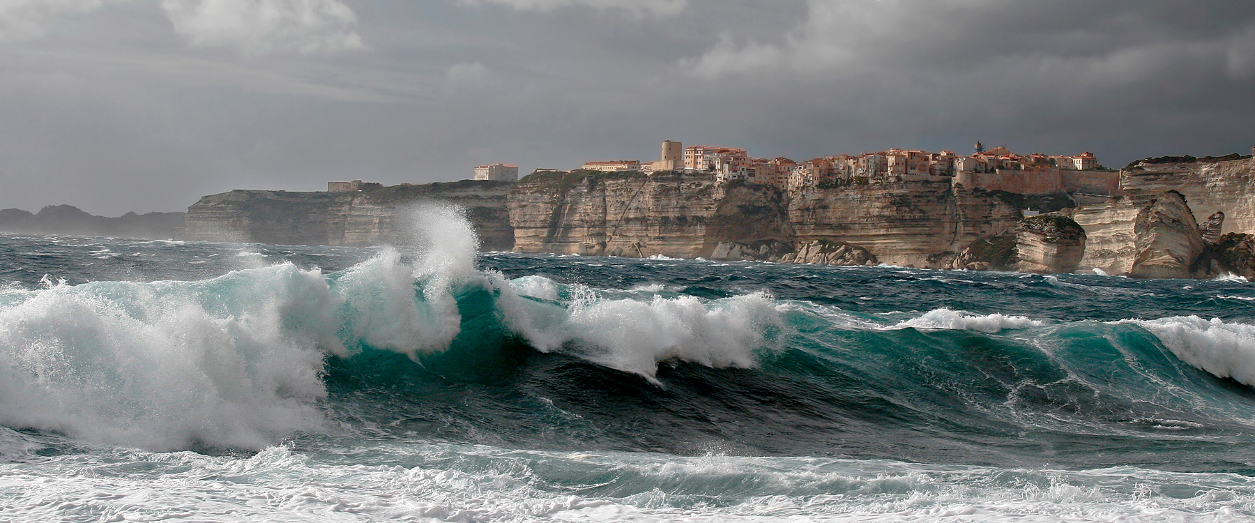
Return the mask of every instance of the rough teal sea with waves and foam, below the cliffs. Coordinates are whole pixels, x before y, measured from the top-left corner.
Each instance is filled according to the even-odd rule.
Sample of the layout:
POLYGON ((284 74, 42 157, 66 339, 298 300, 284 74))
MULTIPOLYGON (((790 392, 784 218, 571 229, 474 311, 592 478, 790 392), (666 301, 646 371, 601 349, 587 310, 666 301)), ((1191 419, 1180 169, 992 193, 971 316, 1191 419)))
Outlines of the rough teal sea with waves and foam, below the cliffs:
POLYGON ((5 522, 1255 520, 1255 285, 0 236, 5 522))

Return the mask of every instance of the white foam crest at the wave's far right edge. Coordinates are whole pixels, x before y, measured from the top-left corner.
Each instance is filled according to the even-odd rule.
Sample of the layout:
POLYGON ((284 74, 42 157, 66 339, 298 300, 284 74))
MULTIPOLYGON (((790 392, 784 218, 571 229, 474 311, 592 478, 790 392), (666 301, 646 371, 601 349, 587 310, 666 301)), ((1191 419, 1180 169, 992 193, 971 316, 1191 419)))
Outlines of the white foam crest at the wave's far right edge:
POLYGON ((1151 331, 1185 362, 1255 386, 1255 326, 1199 316, 1128 321, 1151 331))

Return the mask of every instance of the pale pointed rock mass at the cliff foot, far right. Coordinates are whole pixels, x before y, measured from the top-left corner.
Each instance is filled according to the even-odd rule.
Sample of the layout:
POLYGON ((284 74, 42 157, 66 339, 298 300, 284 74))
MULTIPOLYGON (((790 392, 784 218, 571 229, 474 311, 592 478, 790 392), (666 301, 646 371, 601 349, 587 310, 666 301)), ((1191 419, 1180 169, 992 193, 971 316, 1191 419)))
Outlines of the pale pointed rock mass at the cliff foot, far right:
POLYGON ((1131 277, 1188 278, 1205 243, 1199 223, 1181 193, 1168 191, 1137 216, 1137 252, 1131 277))

